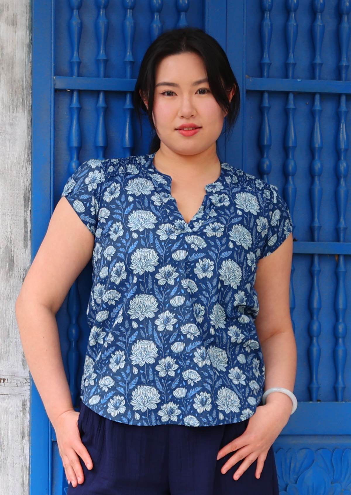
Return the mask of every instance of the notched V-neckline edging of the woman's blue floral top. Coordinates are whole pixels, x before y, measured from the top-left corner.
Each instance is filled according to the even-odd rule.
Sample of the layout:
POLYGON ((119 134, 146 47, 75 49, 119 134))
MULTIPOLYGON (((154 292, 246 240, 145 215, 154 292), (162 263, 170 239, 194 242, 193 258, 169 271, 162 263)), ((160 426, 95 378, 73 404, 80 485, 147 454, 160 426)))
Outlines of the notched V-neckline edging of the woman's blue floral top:
MULTIPOLYGON (((206 203, 208 202, 208 199, 210 198, 209 197, 209 193, 214 193, 214 194, 222 194, 222 192, 224 191, 225 189, 225 180, 224 180, 224 175, 225 175, 225 168, 223 167, 223 164, 226 163, 226 162, 221 162, 220 161, 220 165, 221 165, 221 171, 220 171, 220 174, 219 174, 219 177, 217 177, 217 179, 213 182, 210 182, 209 184, 205 184, 204 186, 204 189, 205 189, 205 194, 202 198, 202 201, 201 201, 201 205, 198 209, 198 211, 193 215, 193 217, 189 220, 189 222, 186 222, 184 216, 182 215, 182 213, 180 212, 179 208, 178 208, 178 203, 177 203, 177 200, 174 196, 172 196, 171 194, 171 185, 172 185, 172 177, 168 174, 165 174, 163 172, 160 172, 156 167, 155 167, 155 164, 154 164, 154 161, 153 161, 153 158, 156 154, 156 151, 154 153, 150 153, 148 154, 147 156, 149 157, 149 161, 150 161, 150 166, 151 166, 151 169, 152 169, 152 172, 154 174, 157 174, 159 175, 161 178, 164 179, 165 183, 163 182, 159 182, 157 181, 156 184, 158 186, 160 185, 163 185, 165 186, 165 189, 167 190, 168 194, 169 194, 169 197, 173 200, 173 203, 174 203, 174 212, 177 216, 179 216, 179 219, 184 223, 184 225, 186 226, 186 228, 188 229, 187 231, 190 231, 193 230, 191 228, 191 224, 198 219, 198 215, 199 213, 201 212, 201 209, 203 209, 203 213, 206 214, 207 212, 207 208, 206 208, 206 203), (218 185, 221 184, 222 186, 222 189, 219 189, 218 190, 218 185)), ((168 208, 166 208, 168 209, 168 208)))

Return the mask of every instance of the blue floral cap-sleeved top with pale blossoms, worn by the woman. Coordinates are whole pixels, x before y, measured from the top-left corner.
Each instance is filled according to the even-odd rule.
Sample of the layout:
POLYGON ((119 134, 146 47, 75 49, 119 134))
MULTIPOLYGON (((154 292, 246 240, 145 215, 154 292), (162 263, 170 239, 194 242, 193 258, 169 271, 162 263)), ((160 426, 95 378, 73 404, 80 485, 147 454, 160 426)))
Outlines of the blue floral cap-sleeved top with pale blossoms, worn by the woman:
POLYGON ((244 421, 265 380, 257 261, 292 232, 288 206, 222 162, 186 223, 154 154, 85 161, 61 195, 95 237, 80 397, 127 424, 244 421))

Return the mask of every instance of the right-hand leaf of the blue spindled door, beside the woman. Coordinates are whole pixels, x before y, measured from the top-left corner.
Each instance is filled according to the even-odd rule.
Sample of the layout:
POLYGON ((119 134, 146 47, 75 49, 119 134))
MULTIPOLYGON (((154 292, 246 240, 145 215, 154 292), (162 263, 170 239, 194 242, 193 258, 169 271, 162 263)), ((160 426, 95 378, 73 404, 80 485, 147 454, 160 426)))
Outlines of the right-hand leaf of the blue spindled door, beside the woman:
POLYGON ((351 493, 350 1, 227 2, 243 96, 226 159, 278 186, 294 225, 297 411, 274 443, 281 494, 351 493))

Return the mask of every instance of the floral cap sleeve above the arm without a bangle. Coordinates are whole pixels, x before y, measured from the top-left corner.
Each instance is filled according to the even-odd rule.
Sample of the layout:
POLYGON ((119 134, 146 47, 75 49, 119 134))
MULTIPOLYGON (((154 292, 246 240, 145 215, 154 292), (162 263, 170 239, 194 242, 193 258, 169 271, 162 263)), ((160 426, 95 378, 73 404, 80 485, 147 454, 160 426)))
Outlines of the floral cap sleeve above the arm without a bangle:
POLYGON ((64 196, 68 200, 84 225, 94 235, 104 179, 104 160, 87 160, 70 175, 61 193, 61 197, 64 196))

